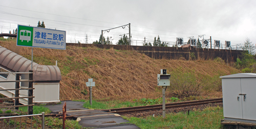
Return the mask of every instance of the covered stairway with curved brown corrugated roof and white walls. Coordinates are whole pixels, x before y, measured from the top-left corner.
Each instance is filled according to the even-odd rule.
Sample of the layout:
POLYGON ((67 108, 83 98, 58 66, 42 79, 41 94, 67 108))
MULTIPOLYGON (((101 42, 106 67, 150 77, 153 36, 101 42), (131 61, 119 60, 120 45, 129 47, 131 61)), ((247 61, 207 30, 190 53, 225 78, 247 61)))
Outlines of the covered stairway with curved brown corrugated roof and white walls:
MULTIPOLYGON (((8 72, 28 72, 31 70, 31 60, 24 58, 5 47, 0 46, 0 73, 1 71, 8 72)), ((54 65, 39 65, 33 62, 33 80, 34 103, 57 103, 59 102, 59 81, 61 81, 61 73, 57 66, 54 65)), ((28 79, 28 75, 22 75, 22 79, 28 79)), ((0 74, 0 81, 15 80, 15 74, 2 75, 0 74)), ((27 88, 28 82, 22 83, 21 88, 27 88), (27 83, 27 84, 26 84, 27 83)), ((15 83, 1 83, 2 89, 14 89, 15 83)), ((5 96, 12 96, 14 91, 1 91, 5 96)), ((21 96, 27 96, 27 90, 20 90, 21 96)), ((23 100, 26 104, 26 98, 23 100)), ((23 103, 21 101, 21 103, 23 103)))

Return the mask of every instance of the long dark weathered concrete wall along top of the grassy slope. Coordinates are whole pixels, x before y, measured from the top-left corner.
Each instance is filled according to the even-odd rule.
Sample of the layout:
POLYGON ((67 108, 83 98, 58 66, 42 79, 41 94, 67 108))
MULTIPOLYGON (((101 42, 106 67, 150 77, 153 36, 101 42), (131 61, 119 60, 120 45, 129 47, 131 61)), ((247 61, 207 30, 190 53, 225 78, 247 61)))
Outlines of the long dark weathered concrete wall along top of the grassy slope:
POLYGON ((67 46, 92 47, 96 46, 105 49, 118 50, 135 50, 138 53, 143 53, 148 57, 154 59, 179 59, 181 57, 186 60, 190 59, 215 59, 220 57, 226 62, 236 62, 237 58, 241 56, 243 50, 230 49, 206 49, 193 47, 161 47, 161 46, 129 46, 129 45, 102 45, 102 44, 78 44, 67 43, 67 46))

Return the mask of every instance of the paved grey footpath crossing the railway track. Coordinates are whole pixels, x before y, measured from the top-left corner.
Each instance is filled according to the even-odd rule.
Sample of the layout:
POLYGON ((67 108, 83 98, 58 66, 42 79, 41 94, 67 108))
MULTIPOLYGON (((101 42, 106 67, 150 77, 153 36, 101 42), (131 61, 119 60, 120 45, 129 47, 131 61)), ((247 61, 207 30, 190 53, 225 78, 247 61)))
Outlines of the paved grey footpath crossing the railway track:
MULTIPOLYGON (((53 113, 61 113, 64 101, 59 105, 48 105, 53 113)), ((137 129, 136 125, 127 123, 129 121, 123 119, 120 115, 103 112, 94 109, 83 108, 84 102, 80 101, 66 101, 67 116, 74 116, 79 121, 82 127, 96 127, 96 128, 124 128, 124 129, 137 129)))

